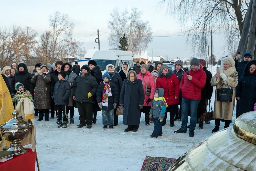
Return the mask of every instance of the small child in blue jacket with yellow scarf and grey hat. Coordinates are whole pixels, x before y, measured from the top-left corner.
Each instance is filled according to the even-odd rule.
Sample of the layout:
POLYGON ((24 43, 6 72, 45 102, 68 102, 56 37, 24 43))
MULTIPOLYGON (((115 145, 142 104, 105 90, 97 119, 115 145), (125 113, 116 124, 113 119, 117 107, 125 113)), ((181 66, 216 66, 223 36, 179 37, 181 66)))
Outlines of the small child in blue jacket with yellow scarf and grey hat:
POLYGON ((154 100, 151 105, 151 109, 149 112, 150 119, 152 116, 154 117, 154 131, 152 135, 150 135, 151 138, 157 138, 158 136, 163 135, 162 130, 162 124, 163 124, 163 118, 165 115, 166 107, 168 107, 164 97, 164 89, 163 88, 157 88, 155 90, 154 100))

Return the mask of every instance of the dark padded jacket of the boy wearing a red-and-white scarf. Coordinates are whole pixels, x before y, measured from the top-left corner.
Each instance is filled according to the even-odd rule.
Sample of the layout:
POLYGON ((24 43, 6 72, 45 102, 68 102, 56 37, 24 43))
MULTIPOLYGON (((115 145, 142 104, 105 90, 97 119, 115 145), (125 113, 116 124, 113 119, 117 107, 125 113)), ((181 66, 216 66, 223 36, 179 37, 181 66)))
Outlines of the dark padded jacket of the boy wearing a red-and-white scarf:
MULTIPOLYGON (((114 83, 109 83, 110 88, 111 88, 111 93, 112 96, 108 97, 108 106, 102 106, 102 110, 111 110, 114 109, 113 105, 114 103, 118 103, 119 99, 118 99, 118 92, 117 92, 117 87, 114 83)), ((102 101, 102 94, 103 94, 103 90, 104 90, 105 84, 101 83, 98 87, 97 90, 97 105, 98 103, 101 103, 102 101)))

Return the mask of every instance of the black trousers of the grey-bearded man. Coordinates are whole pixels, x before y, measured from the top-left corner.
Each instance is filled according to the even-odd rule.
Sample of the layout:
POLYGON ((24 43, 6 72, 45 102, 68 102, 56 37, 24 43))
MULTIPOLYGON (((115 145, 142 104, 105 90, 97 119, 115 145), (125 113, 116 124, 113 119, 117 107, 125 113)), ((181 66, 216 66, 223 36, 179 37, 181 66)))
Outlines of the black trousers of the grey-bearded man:
POLYGON ((80 124, 92 125, 92 103, 77 102, 80 124))

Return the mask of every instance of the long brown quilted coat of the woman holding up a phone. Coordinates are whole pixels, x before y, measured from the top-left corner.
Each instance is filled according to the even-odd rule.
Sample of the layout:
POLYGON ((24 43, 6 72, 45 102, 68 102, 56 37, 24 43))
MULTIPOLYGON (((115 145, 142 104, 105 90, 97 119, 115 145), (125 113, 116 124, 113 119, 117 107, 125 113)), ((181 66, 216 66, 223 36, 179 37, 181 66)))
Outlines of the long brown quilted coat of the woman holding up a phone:
POLYGON ((51 109, 51 74, 48 70, 42 76, 33 76, 31 82, 35 84, 34 90, 34 106, 35 109, 51 109))

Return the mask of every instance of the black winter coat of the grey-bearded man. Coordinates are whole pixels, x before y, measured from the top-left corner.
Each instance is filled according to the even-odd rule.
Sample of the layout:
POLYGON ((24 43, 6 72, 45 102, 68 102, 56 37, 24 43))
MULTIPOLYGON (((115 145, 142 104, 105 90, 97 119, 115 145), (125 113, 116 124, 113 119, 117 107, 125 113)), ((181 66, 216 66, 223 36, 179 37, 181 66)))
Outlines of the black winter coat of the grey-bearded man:
POLYGON ((90 75, 91 71, 89 70, 85 77, 78 76, 73 87, 73 96, 76 96, 77 102, 87 102, 94 103, 92 97, 88 98, 88 93, 90 92, 93 95, 96 94, 98 83, 96 79, 90 75))

